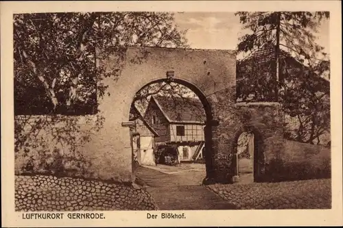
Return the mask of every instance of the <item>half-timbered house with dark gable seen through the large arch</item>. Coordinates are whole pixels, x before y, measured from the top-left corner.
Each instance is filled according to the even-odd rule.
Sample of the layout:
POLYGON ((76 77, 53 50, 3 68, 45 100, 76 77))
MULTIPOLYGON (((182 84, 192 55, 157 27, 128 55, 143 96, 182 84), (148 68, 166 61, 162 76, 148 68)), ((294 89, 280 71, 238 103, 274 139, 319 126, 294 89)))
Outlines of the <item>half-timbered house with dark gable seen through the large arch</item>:
POLYGON ((152 96, 144 118, 158 134, 157 146, 177 147, 181 161, 203 156, 206 114, 200 99, 152 96))

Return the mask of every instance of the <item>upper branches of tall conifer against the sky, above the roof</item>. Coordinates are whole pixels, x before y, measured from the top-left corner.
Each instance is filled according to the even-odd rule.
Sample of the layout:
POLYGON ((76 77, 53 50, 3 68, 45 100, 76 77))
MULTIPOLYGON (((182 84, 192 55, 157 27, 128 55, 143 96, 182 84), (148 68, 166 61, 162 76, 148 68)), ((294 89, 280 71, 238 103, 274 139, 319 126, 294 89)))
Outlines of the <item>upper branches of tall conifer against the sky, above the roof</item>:
POLYGON ((318 60, 323 47, 316 44, 317 28, 329 12, 237 12, 243 29, 250 34, 240 38, 238 51, 255 51, 265 44, 280 45, 287 52, 296 55, 297 60, 307 62, 318 60))

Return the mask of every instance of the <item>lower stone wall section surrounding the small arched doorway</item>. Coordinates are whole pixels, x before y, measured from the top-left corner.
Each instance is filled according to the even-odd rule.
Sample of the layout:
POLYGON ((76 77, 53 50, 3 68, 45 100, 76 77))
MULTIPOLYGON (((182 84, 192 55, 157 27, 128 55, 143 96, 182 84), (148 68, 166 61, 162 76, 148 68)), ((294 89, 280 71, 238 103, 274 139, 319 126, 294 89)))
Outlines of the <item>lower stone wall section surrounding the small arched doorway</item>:
POLYGON ((254 176, 255 181, 269 176, 266 166, 274 157, 283 157, 283 112, 279 103, 236 103, 234 153, 242 131, 255 135, 254 176))

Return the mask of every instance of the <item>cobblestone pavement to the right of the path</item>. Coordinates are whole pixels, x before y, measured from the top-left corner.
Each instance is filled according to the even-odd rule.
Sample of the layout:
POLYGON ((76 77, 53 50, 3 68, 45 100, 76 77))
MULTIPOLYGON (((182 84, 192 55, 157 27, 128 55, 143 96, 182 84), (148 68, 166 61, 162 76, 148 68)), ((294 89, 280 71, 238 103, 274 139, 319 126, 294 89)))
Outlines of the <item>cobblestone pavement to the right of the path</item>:
POLYGON ((239 209, 330 209, 331 179, 207 186, 239 209))

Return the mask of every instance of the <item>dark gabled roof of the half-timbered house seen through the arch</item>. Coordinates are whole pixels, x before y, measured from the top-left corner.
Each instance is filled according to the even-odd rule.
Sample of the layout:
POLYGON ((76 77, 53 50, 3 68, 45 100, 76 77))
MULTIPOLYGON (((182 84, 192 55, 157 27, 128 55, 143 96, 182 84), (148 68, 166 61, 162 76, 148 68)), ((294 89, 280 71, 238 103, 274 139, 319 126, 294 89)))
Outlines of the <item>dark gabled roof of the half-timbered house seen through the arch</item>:
POLYGON ((200 99, 191 97, 152 96, 169 123, 204 123, 206 114, 200 99))

